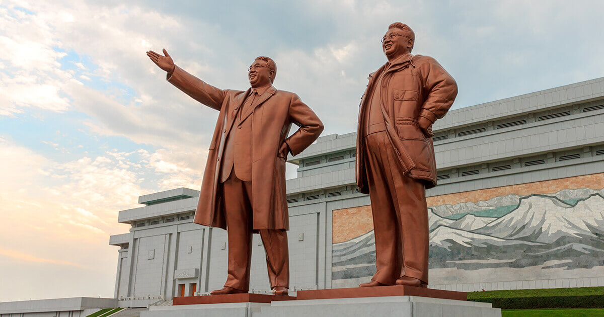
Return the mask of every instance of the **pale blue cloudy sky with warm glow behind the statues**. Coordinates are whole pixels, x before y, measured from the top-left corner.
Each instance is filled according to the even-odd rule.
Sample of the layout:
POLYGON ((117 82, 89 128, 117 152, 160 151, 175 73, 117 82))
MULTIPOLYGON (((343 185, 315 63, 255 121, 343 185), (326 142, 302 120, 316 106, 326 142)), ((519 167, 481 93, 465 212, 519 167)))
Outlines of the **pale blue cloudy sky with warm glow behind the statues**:
MULTIPOLYGON (((323 135, 356 130, 392 22, 457 80, 452 109, 604 76, 602 1, 0 0, 0 301, 113 297, 118 211, 199 190, 217 112, 147 50, 223 89, 257 56, 323 135)), ((288 178, 295 166, 288 164, 288 178)))

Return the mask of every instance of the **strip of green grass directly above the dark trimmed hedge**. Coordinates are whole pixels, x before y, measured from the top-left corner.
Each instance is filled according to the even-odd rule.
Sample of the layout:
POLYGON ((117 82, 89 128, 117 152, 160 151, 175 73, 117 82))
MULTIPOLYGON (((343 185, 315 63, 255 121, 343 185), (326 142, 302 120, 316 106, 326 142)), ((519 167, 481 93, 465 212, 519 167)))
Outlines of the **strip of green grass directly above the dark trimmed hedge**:
POLYGON ((467 300, 478 298, 517 298, 550 296, 592 296, 604 295, 604 287, 573 287, 569 289, 513 289, 468 292, 467 300))

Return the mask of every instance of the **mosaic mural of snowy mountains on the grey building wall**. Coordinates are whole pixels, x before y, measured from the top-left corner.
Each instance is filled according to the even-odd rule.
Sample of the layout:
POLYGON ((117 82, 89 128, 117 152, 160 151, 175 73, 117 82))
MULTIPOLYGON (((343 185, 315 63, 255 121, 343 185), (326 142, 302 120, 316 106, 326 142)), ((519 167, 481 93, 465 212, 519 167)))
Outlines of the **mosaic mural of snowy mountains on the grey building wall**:
MULTIPOLYGON (((595 176, 598 181, 590 185, 596 188, 564 188, 544 193, 568 185, 568 180, 580 181, 570 178, 567 182, 562 179, 500 190, 490 188, 482 193, 458 193, 445 198, 449 203, 429 207, 431 277, 440 274, 442 283, 468 283, 449 275, 460 270, 466 273, 481 270, 492 275, 503 271, 484 269, 505 268, 512 269, 508 273, 521 274, 523 279, 538 279, 539 271, 547 269, 602 271, 604 175, 595 176), (472 202, 452 201, 492 194, 499 195, 472 202)), ((443 202, 443 197, 431 197, 428 203, 431 202, 443 202)), ((370 206, 333 211, 333 287, 355 286, 374 274, 370 213, 370 206), (353 229, 344 229, 346 223, 353 223, 353 229)))

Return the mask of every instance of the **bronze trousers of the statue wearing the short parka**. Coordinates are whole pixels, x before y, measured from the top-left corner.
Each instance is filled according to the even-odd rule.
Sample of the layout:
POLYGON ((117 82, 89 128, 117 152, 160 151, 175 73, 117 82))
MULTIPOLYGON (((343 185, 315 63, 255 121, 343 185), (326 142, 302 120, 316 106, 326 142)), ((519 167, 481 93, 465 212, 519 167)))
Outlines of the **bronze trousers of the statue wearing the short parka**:
POLYGON ((426 187, 403 175, 386 132, 365 136, 377 272, 371 280, 393 285, 407 276, 428 283, 426 187))

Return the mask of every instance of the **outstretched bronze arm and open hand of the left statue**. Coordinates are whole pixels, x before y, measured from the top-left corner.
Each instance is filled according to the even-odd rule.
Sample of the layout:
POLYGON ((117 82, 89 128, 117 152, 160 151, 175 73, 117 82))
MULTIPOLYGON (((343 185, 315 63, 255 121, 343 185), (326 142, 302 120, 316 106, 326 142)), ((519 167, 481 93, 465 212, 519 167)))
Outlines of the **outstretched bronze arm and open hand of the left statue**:
POLYGON ((175 65, 172 57, 164 49, 164 55, 148 51, 147 56, 159 68, 167 72, 167 80, 176 88, 181 89, 185 94, 194 100, 197 100, 208 107, 220 110, 222 101, 224 101, 226 92, 222 89, 208 85, 203 80, 189 74, 175 65))

